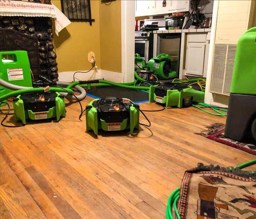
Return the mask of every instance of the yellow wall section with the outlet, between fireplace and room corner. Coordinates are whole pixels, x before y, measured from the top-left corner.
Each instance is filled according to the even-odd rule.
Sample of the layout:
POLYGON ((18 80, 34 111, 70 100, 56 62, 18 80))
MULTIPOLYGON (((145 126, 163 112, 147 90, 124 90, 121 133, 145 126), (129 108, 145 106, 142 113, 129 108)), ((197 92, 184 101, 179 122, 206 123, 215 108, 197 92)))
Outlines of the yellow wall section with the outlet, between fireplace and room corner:
MULTIPOLYGON (((61 10, 60 0, 52 3, 61 10)), ((91 17, 95 19, 92 26, 86 22, 72 22, 60 31, 59 37, 54 35, 54 50, 57 54, 59 72, 89 70, 88 53, 95 53, 96 65, 101 67, 99 45, 99 4, 91 1, 91 17)))

